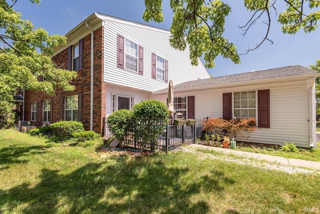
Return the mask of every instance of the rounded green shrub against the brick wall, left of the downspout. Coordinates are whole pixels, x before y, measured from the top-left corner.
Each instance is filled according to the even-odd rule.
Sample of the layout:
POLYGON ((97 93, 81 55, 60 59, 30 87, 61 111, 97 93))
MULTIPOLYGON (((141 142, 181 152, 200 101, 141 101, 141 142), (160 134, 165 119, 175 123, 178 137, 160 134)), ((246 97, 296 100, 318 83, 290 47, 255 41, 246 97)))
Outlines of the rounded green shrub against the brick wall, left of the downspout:
POLYGON ((83 124, 76 121, 59 121, 50 125, 56 140, 65 141, 72 137, 73 132, 84 131, 83 124))

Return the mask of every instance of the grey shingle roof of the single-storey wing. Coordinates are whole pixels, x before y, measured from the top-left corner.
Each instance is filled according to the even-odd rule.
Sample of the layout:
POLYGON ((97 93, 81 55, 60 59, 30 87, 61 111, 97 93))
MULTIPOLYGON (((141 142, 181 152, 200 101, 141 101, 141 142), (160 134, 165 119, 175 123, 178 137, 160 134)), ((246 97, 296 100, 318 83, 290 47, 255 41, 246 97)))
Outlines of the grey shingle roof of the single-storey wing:
MULTIPOLYGON (((194 80, 189 82, 183 82, 174 86, 174 90, 177 89, 188 89, 188 88, 197 88, 203 86, 213 86, 221 85, 228 83, 239 83, 253 80, 263 80, 263 79, 272 79, 278 77, 289 77, 305 74, 318 74, 318 72, 311 69, 305 68, 303 66, 295 65, 288 66, 283 68, 274 68, 268 70, 252 71, 242 74, 234 74, 223 77, 214 77, 203 80, 194 80)), ((161 89, 160 91, 167 91, 167 88, 161 89)))

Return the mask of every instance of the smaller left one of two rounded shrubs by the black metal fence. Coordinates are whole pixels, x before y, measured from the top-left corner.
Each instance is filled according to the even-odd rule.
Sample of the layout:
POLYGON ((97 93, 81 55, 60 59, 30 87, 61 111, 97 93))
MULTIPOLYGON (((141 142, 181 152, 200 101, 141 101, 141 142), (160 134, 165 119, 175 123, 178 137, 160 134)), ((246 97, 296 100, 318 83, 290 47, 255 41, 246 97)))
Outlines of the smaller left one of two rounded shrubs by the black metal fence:
POLYGON ((132 111, 127 109, 113 112, 107 117, 106 122, 112 135, 119 141, 120 145, 122 145, 123 140, 132 131, 132 127, 134 127, 132 111))

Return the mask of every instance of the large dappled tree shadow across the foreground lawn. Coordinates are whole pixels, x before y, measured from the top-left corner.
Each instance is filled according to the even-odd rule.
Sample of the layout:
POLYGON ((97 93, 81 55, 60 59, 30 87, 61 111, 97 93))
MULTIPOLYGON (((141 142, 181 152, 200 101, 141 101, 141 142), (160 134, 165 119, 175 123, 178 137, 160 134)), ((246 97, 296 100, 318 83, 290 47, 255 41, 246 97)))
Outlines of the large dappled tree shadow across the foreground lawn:
POLYGON ((207 201, 192 196, 223 195, 218 179, 234 183, 219 171, 184 181, 189 170, 168 167, 152 157, 111 157, 69 174, 44 168, 34 187, 24 183, 0 189, 0 206, 23 213, 207 213, 207 201))

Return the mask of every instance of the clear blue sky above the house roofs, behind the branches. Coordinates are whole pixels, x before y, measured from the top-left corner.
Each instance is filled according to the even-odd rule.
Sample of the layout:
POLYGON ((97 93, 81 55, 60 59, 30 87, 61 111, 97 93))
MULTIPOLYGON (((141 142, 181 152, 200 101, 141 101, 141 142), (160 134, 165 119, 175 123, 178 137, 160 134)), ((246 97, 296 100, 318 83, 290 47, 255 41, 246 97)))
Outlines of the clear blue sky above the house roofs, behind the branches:
MULTIPOLYGON (((242 0, 224 1, 231 7, 231 13, 226 19, 224 36, 233 42, 238 53, 244 53, 248 46, 254 47, 264 36, 265 25, 262 20, 255 23, 253 28, 244 37, 238 26, 244 25, 249 17, 243 7, 242 0)), ((279 2, 277 13, 284 5, 279 2)), ((40 5, 31 4, 28 1, 19 0, 14 9, 21 13, 23 20, 32 21, 35 27, 44 28, 50 35, 64 35, 92 13, 97 12, 121 19, 155 26, 169 30, 172 13, 169 8, 169 0, 163 0, 163 23, 144 23, 142 15, 144 11, 143 0, 42 0, 40 5)), ((320 29, 305 34, 300 31, 296 35, 284 35, 281 26, 276 22, 275 13, 272 14, 271 32, 269 39, 273 44, 265 42, 257 50, 241 55, 241 64, 234 64, 229 59, 218 57, 215 67, 208 69, 214 77, 285 67, 290 65, 309 66, 320 59, 320 29)))

